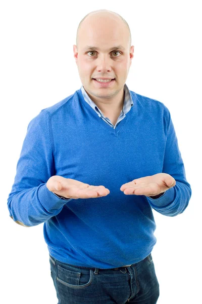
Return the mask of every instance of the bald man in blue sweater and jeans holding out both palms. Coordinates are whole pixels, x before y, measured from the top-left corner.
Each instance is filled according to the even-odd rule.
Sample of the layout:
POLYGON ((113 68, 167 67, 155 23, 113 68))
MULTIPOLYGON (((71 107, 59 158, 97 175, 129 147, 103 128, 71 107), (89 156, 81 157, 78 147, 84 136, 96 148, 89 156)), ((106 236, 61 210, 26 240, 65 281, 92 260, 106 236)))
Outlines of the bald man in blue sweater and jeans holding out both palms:
POLYGON ((134 46, 120 15, 91 12, 76 44, 82 86, 29 123, 10 216, 44 222, 59 303, 156 303, 152 208, 176 216, 191 197, 170 112, 125 84, 134 46))

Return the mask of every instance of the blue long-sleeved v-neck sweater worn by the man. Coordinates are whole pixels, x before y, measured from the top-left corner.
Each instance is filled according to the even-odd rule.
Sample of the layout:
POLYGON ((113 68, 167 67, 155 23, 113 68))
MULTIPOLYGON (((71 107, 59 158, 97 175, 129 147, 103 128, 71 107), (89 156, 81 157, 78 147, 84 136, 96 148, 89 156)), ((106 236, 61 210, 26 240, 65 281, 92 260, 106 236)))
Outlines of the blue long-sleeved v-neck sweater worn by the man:
POLYGON ((81 89, 28 125, 8 208, 23 225, 44 222, 49 254, 62 262, 102 269, 139 262, 157 241, 152 209, 176 216, 190 200, 168 108, 129 92, 133 106, 116 128, 100 119, 81 89), (158 199, 120 191, 126 182, 161 172, 176 185, 158 199), (46 187, 53 175, 104 185, 110 194, 64 200, 46 187))

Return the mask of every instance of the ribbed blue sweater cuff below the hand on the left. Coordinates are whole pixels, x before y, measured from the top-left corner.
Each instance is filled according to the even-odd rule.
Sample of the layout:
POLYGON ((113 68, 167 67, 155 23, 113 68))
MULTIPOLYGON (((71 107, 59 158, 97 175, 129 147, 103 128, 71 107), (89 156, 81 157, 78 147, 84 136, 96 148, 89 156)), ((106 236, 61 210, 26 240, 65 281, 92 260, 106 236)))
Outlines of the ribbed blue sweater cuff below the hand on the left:
POLYGON ((54 209, 58 210, 67 203, 66 200, 59 198, 53 192, 49 191, 48 188, 46 187, 46 183, 39 187, 38 199, 41 205, 45 208, 45 210, 49 212, 53 211, 54 209))

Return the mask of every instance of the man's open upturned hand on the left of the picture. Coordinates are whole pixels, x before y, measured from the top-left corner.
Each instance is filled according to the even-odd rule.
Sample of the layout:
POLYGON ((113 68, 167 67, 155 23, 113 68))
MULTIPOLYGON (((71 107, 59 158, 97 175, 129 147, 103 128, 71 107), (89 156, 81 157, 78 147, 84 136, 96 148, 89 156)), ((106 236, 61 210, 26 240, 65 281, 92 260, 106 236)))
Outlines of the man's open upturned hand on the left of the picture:
POLYGON ((51 176, 46 182, 46 187, 49 191, 67 199, 97 198, 107 196, 110 193, 105 186, 92 186, 60 175, 51 176))

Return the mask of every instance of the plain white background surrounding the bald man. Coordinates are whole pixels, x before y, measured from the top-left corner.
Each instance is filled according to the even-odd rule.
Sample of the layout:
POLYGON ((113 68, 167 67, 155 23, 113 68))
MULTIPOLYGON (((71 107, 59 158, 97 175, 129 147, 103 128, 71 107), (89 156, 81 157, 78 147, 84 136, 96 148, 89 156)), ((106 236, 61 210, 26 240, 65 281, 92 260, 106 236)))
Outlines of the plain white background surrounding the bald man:
MULTIPOLYGON (((56 304, 43 224, 26 228, 9 216, 7 199, 30 120, 81 86, 73 57, 76 30, 89 12, 109 9, 128 22, 134 58, 129 89, 163 102, 174 123, 186 178, 187 209, 154 212, 158 304, 201 300, 201 10, 199 1, 3 1, 1 22, 0 301, 56 304), (4 301, 3 301, 4 298, 4 301)), ((75 303, 76 304, 76 303, 75 303)))

